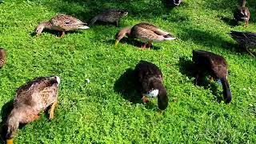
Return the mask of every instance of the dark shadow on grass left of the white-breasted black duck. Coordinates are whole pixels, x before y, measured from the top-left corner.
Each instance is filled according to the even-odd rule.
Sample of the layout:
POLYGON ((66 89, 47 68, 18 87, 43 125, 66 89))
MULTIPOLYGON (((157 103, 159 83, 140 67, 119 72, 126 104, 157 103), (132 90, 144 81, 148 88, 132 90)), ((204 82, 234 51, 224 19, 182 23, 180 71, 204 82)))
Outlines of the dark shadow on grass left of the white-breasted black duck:
POLYGON ((138 83, 134 78, 134 70, 127 69, 114 83, 114 91, 122 95, 122 98, 132 103, 142 103, 138 92, 138 83))

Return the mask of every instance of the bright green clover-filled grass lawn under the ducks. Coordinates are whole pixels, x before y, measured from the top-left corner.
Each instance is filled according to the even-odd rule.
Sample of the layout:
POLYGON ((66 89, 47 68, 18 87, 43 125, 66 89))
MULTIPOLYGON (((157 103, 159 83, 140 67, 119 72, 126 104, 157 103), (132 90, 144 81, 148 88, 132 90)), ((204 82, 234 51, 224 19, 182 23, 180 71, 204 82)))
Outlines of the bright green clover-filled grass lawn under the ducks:
POLYGON ((49 121, 41 113, 38 121, 18 130, 14 142, 256 143, 256 61, 238 50, 226 34, 230 30, 256 32, 254 0, 247 2, 249 27, 244 28, 242 22, 231 27, 222 20, 233 18, 232 10, 239 2, 184 0, 170 9, 160 0, 5 0, 0 4, 0 46, 7 50, 7 63, 0 71, 2 119, 6 103, 23 83, 39 76, 62 79, 54 119, 49 121), (62 39, 47 32, 39 38, 31 36, 38 22, 55 14, 71 14, 89 22, 108 7, 129 11, 120 22, 122 27, 150 22, 178 40, 154 43, 156 50, 139 51, 140 43, 126 38, 116 48, 114 34, 120 28, 111 25, 91 26, 62 39), (222 87, 216 83, 194 86, 186 68, 196 49, 226 58, 233 94, 230 105, 219 102, 222 87), (156 100, 146 106, 130 100, 136 95, 133 90, 122 90, 129 83, 122 80, 130 80, 127 71, 141 59, 162 69, 170 102, 163 115, 158 114, 156 100))

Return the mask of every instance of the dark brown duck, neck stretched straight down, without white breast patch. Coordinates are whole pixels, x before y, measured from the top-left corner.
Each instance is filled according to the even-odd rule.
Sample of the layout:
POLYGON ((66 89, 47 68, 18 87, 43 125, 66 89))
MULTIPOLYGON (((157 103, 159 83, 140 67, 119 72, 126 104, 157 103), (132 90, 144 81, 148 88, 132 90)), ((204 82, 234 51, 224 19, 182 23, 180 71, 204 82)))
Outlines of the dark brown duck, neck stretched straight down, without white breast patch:
POLYGON ((195 76, 195 85, 198 84, 198 78, 203 74, 210 74, 215 79, 222 82, 223 95, 226 103, 231 101, 230 85, 227 81, 227 63, 225 58, 204 50, 193 50, 193 62, 197 70, 195 76))

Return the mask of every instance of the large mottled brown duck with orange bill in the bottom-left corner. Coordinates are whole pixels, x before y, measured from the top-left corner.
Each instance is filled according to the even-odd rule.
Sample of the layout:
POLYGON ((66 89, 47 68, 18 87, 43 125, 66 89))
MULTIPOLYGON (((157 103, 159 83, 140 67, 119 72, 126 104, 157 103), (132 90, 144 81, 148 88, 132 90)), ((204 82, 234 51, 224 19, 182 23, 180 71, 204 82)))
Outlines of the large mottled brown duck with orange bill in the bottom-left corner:
POLYGON ((6 121, 6 143, 12 144, 19 123, 29 123, 38 119, 39 112, 50 107, 50 117, 54 118, 60 78, 57 76, 35 78, 20 86, 14 98, 14 107, 6 121))

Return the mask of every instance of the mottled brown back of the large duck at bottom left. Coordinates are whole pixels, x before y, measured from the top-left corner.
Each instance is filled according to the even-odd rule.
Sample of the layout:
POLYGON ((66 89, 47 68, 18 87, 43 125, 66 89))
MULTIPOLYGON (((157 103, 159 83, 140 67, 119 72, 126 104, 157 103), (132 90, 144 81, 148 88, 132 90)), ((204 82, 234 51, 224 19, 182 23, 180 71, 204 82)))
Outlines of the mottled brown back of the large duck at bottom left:
POLYGON ((54 78, 36 78, 19 87, 14 107, 30 106, 36 111, 44 110, 57 99, 58 82, 54 78))

